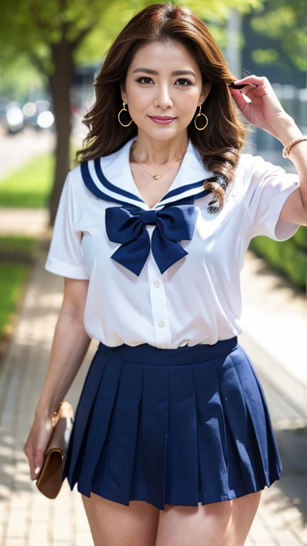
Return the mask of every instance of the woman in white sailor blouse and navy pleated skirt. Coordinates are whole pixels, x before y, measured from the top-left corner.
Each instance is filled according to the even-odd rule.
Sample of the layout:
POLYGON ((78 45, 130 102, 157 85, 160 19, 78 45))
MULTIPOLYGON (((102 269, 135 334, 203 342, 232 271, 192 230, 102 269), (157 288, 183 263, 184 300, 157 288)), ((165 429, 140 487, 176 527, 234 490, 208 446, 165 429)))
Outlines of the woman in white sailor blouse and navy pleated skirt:
POLYGON ((95 545, 243 545, 281 476, 237 342, 239 274, 252 237, 307 225, 307 144, 265 77, 239 80, 249 102, 233 80, 190 10, 147 7, 109 48, 63 187, 45 269, 65 277, 64 299, 25 451, 35 479, 97 338, 63 470, 95 545), (240 153, 239 111, 292 143, 298 174, 240 153))

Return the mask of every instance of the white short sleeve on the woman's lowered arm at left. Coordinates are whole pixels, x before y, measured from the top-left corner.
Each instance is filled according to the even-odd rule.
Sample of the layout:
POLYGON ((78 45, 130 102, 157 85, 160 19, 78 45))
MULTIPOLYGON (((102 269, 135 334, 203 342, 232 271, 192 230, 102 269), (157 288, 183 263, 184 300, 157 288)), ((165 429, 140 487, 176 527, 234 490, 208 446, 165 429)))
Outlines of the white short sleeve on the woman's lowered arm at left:
POLYGON ((80 246, 81 232, 74 228, 74 203, 68 173, 55 216, 45 269, 63 277, 89 279, 80 246))

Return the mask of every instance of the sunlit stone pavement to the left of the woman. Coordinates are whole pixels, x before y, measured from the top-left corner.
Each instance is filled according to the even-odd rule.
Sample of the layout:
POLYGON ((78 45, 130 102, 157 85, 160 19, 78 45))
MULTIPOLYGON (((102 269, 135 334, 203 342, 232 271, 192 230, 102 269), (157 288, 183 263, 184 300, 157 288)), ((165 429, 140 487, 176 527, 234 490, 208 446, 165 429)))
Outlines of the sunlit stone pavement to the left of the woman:
MULTIPOLYGON (((30 479, 23 453, 48 366, 62 296, 63 277, 45 272, 42 257, 29 279, 14 340, 0 367, 1 546, 92 544, 80 495, 71 493, 65 481, 55 501, 45 498, 30 479)), ((91 343, 86 362, 68 392, 74 407, 95 343, 91 343)))

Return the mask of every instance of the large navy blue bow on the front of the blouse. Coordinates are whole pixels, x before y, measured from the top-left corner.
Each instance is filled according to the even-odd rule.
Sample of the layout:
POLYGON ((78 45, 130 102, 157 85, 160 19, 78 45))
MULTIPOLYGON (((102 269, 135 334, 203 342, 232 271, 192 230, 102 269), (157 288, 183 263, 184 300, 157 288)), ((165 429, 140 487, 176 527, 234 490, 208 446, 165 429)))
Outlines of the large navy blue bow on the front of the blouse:
MULTIPOLYGON (((191 200, 186 200, 190 203, 191 200)), ((105 211, 107 236, 122 245, 111 256, 139 276, 150 252, 163 273, 188 252, 178 241, 191 240, 198 209, 191 204, 144 210, 135 205, 109 207, 105 211), (151 241, 146 224, 155 224, 151 241)))

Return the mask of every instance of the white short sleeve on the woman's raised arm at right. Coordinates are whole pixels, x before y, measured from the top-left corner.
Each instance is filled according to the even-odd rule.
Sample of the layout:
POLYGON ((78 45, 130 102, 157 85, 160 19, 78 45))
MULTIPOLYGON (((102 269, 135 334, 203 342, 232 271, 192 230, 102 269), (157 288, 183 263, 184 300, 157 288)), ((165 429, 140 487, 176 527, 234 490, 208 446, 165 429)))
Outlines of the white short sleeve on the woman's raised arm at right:
POLYGON ((246 156, 244 204, 252 224, 252 237, 266 235, 276 241, 285 241, 300 227, 279 218, 286 199, 299 188, 298 174, 287 173, 284 168, 265 161, 262 156, 246 156))

